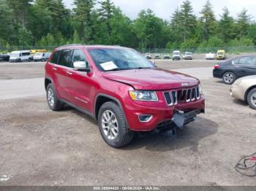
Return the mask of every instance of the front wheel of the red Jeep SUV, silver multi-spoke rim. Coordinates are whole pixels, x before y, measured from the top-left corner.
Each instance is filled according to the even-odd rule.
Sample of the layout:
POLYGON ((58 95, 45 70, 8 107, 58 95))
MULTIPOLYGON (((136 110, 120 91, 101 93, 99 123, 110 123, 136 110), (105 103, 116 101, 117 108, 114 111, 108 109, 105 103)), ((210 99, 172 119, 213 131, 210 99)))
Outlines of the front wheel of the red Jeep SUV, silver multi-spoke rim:
POLYGON ((129 130, 124 113, 113 101, 100 107, 98 125, 102 138, 110 147, 121 148, 132 141, 134 133, 129 130))

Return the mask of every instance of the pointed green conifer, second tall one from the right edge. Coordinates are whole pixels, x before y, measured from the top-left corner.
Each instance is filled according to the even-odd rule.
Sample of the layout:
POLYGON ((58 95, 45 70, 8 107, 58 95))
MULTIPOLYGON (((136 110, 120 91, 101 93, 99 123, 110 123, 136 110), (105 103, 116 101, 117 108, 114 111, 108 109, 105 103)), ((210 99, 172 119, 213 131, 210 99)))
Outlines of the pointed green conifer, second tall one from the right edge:
POLYGON ((222 41, 227 43, 230 39, 234 38, 234 19, 230 16, 230 12, 227 7, 223 9, 223 13, 221 15, 221 19, 219 21, 219 36, 222 41))

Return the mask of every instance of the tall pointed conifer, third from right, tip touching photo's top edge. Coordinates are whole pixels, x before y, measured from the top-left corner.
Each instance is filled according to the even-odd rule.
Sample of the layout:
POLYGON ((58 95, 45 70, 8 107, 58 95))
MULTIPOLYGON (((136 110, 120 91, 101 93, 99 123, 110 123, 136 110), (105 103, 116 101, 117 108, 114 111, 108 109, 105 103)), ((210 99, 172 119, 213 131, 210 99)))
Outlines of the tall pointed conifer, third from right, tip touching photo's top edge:
POLYGON ((214 34, 216 28, 216 18, 214 15, 213 7, 209 0, 206 1, 206 4, 203 6, 200 14, 200 23, 202 25, 202 34, 203 40, 208 40, 211 34, 214 34))

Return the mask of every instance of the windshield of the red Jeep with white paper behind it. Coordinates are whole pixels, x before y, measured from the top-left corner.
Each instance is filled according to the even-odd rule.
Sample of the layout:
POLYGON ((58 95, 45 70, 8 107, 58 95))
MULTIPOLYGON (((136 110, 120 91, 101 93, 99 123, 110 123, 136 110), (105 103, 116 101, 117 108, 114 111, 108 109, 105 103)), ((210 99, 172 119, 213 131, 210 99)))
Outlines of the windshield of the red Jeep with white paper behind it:
POLYGON ((101 71, 154 69, 153 64, 135 50, 99 48, 89 53, 101 71))

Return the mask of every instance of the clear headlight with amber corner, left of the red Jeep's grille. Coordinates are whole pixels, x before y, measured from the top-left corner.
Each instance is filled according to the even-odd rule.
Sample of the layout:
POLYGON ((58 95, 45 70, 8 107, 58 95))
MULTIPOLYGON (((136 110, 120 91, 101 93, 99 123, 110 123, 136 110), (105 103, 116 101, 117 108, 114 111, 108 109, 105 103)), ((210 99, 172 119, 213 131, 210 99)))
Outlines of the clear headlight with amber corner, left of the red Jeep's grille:
POLYGON ((133 100, 137 101, 158 101, 155 91, 129 91, 129 95, 133 100))

